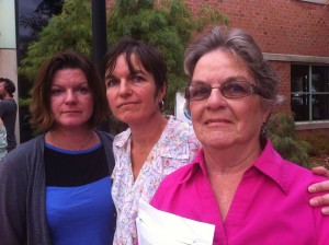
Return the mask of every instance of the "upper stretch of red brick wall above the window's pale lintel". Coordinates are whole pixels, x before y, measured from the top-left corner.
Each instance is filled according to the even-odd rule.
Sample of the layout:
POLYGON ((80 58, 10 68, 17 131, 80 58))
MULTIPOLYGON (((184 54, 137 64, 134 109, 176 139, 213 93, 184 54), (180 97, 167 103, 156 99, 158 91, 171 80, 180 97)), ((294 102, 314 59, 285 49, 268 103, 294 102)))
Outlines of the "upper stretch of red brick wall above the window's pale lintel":
POLYGON ((247 30, 262 51, 329 56, 329 8, 298 0, 190 0, 192 11, 202 4, 218 7, 230 27, 247 30))

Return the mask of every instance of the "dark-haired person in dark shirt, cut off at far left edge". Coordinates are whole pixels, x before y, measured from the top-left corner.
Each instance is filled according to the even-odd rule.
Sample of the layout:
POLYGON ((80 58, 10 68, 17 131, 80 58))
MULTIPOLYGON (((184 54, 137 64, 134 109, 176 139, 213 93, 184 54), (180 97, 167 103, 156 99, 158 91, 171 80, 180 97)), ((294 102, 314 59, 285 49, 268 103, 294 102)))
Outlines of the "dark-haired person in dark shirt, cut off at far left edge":
POLYGON ((15 84, 5 78, 0 78, 0 118, 7 130, 7 151, 10 152, 16 147, 15 122, 18 105, 13 100, 15 84))

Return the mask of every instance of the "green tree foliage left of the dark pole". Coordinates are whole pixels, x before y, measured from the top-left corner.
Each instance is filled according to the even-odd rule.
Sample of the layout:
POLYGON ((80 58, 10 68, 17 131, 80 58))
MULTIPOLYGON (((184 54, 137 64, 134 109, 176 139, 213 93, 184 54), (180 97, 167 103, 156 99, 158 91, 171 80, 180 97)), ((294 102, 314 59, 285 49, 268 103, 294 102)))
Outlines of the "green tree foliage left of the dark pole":
POLYGON ((20 73, 33 81, 41 65, 57 51, 72 48, 91 56, 91 4, 88 0, 67 0, 27 48, 20 73))

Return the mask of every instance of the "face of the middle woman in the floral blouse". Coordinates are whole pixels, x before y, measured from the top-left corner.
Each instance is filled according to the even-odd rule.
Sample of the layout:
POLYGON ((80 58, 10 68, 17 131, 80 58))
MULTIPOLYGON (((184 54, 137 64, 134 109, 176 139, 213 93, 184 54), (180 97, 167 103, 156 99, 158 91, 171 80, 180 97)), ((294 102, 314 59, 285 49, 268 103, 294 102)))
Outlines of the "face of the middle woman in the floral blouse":
POLYGON ((121 121, 133 125, 147 121, 159 114, 158 103, 162 101, 164 91, 156 96, 154 75, 148 73, 132 56, 135 73, 129 71, 124 55, 116 59, 112 74, 105 74, 106 95, 113 115, 121 121))

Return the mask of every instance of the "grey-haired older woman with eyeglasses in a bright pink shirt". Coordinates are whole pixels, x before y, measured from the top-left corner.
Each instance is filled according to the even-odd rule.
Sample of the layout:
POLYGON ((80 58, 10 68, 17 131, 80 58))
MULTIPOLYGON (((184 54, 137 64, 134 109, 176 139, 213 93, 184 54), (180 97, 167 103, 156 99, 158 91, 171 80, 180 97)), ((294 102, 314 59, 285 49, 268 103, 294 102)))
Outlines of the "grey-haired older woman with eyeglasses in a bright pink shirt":
POLYGON ((266 138, 280 79, 253 38, 216 26, 186 49, 184 68, 202 149, 150 203, 214 224, 214 244, 328 244, 329 218, 306 191, 325 177, 283 160, 266 138))

